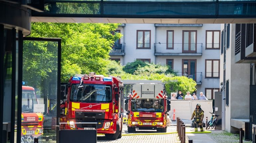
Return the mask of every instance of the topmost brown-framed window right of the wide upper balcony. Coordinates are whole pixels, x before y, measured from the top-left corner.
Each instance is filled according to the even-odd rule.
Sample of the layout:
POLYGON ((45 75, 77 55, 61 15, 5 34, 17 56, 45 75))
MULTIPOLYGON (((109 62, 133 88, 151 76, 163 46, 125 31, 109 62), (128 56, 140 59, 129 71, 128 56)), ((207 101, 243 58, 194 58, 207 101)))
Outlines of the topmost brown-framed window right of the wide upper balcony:
POLYGON ((219 49, 220 30, 206 30, 206 49, 219 49))

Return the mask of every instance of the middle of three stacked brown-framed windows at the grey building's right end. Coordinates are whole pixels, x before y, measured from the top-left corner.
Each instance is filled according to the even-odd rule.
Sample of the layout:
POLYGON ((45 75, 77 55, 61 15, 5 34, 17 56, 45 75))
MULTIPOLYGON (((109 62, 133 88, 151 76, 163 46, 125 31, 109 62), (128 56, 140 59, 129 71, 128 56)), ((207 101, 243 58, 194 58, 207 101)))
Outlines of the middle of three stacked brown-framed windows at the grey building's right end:
POLYGON ((219 78, 219 59, 205 59, 205 78, 219 78))

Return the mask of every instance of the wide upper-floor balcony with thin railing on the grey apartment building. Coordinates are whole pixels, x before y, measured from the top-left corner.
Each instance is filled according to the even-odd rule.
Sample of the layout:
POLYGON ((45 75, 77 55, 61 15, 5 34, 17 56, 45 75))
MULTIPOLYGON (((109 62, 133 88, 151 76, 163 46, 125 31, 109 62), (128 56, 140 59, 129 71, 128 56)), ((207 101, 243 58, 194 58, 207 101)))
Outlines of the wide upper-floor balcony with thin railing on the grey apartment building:
POLYGON ((202 43, 155 43, 155 55, 202 55, 202 43))

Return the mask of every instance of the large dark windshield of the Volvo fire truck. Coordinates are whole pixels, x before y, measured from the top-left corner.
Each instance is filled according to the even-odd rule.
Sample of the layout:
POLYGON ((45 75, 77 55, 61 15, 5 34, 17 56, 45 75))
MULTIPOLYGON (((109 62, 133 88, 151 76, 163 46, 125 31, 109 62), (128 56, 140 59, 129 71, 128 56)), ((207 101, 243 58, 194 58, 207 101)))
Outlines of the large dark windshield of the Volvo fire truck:
POLYGON ((111 85, 73 84, 70 100, 75 102, 111 102, 111 85))

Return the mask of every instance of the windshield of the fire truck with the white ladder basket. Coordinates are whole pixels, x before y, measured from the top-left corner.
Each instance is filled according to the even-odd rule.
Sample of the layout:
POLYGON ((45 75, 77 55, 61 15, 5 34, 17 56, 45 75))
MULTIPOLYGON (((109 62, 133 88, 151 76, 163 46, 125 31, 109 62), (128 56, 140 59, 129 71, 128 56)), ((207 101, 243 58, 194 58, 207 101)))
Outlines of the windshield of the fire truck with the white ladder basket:
POLYGON ((133 112, 163 112, 163 99, 133 99, 133 112))

